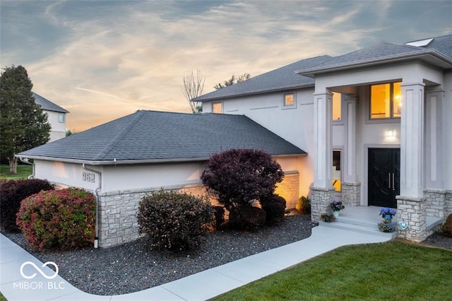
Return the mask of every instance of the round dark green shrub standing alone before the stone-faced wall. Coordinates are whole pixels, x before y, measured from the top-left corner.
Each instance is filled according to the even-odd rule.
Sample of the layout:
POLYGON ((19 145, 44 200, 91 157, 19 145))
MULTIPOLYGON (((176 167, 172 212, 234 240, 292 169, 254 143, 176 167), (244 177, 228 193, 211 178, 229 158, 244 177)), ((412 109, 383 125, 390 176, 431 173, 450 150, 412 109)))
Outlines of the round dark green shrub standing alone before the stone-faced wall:
POLYGON ((151 247, 177 252, 199 247, 213 213, 206 199, 161 189, 141 199, 137 219, 151 247))

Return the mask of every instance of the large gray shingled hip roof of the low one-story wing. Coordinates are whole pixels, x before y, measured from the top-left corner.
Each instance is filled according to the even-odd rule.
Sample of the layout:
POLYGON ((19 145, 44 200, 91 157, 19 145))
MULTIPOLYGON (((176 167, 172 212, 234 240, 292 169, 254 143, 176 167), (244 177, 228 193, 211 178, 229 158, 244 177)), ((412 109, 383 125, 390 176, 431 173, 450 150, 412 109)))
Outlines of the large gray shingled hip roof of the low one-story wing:
POLYGON ((306 155, 243 115, 137 111, 134 114, 19 153, 102 165, 205 160, 231 148, 252 148, 271 155, 306 155))

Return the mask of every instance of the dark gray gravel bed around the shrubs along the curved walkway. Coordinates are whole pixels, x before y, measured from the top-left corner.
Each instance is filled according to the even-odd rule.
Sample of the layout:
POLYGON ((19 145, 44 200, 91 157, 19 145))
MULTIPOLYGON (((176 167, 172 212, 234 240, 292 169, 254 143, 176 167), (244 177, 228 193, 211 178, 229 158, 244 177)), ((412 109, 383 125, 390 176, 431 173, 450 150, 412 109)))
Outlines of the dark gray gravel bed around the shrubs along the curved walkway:
MULTIPOLYGON (((4 235, 40 261, 54 261, 59 275, 76 288, 95 295, 120 295, 303 240, 311 235, 315 225, 308 215, 293 215, 257 232, 210 232, 200 249, 180 254, 149 249, 145 238, 108 249, 87 247, 70 252, 37 252, 27 246, 21 234, 4 235)), ((452 250, 452 238, 439 232, 420 244, 452 250)))

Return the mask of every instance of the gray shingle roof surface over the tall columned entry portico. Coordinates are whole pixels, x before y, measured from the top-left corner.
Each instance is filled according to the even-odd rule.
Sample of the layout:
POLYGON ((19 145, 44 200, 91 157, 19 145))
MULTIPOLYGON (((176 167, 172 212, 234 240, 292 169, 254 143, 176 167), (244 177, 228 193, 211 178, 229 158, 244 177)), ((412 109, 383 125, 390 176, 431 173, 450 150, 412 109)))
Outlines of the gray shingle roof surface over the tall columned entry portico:
POLYGON ((373 64, 376 61, 387 61, 389 59, 403 59, 413 55, 421 54, 443 54, 452 61, 452 35, 434 37, 432 42, 425 47, 411 45, 395 45, 388 42, 358 49, 354 52, 334 57, 311 68, 299 69, 297 73, 312 75, 319 71, 329 71, 333 69, 358 66, 362 64, 373 64))

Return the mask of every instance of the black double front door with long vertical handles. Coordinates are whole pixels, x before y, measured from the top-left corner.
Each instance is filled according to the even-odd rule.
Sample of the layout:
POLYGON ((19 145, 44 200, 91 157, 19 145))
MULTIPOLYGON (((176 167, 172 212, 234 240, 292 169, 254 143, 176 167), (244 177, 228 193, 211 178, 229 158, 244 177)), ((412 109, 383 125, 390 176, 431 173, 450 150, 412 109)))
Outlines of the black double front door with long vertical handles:
POLYGON ((400 148, 369 148, 369 206, 397 208, 400 148))

